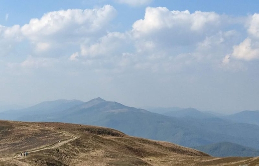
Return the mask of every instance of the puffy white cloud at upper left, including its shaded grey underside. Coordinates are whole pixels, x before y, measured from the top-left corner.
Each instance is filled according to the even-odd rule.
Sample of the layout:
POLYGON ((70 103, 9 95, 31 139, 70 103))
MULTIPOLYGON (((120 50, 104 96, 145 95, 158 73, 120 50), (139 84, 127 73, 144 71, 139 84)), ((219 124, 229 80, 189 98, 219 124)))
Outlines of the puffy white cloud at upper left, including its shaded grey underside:
POLYGON ((116 13, 111 5, 85 10, 52 11, 40 19, 31 19, 21 27, 21 32, 40 51, 58 43, 80 44, 104 35, 116 13))

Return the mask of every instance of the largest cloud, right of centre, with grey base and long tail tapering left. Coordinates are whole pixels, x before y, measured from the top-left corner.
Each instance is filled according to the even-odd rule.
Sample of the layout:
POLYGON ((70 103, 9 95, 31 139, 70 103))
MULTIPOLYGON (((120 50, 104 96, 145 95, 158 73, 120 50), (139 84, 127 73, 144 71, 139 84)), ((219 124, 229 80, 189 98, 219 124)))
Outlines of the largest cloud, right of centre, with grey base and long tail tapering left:
POLYGON ((235 30, 222 31, 223 17, 215 12, 147 7, 144 19, 136 20, 130 31, 108 32, 95 43, 81 44, 70 60, 85 59, 86 65, 97 68, 153 72, 221 64, 239 35, 235 30))

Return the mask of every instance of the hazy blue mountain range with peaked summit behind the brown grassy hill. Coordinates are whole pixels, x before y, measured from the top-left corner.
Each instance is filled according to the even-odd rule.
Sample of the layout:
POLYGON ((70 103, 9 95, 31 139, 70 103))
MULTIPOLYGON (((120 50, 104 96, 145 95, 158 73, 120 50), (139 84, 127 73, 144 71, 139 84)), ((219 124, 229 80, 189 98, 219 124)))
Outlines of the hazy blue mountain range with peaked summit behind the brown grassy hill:
POLYGON ((185 147, 231 142, 259 149, 259 126, 231 116, 218 117, 189 108, 157 114, 96 98, 88 102, 57 100, 0 113, 0 119, 66 122, 104 126, 128 135, 167 141, 185 147), (167 116, 166 116, 167 115, 167 116))

